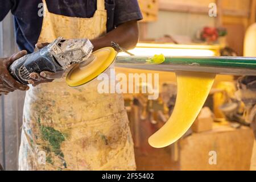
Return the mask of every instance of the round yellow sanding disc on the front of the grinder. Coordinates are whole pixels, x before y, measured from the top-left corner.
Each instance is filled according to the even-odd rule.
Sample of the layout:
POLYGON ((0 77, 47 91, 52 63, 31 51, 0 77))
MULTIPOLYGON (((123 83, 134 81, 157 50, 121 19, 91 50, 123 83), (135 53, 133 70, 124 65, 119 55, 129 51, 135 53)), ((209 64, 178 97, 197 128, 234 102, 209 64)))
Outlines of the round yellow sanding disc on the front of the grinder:
POLYGON ((112 47, 105 47, 93 52, 94 60, 88 65, 77 65, 72 68, 66 77, 69 86, 75 87, 92 81, 112 65, 117 52, 112 47))

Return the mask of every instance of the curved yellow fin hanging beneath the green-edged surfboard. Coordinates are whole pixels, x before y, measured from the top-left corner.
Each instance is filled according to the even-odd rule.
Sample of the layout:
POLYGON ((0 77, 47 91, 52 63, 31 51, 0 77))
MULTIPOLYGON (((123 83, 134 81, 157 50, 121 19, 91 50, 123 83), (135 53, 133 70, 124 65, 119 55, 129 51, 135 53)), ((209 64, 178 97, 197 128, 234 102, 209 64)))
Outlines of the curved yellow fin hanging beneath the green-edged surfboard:
POLYGON ((176 142, 191 127, 208 97, 215 74, 178 72, 176 77, 177 98, 174 111, 166 124, 148 139, 148 143, 155 148, 176 142))

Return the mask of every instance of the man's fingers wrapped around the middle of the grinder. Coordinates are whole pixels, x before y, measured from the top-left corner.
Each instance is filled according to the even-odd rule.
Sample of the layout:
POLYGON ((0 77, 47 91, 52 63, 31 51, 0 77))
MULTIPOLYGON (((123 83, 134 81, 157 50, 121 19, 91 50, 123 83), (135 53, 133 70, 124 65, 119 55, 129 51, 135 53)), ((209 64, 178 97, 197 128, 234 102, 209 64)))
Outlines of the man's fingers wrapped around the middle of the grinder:
MULTIPOLYGON (((43 47, 47 46, 49 43, 38 43, 35 45, 35 51, 38 51, 39 49, 42 49, 43 47)), ((63 72, 41 72, 39 73, 30 73, 30 80, 28 80, 28 83, 31 84, 32 86, 37 86, 39 84, 47 83, 47 82, 52 82, 56 78, 61 78, 64 74, 63 72)))

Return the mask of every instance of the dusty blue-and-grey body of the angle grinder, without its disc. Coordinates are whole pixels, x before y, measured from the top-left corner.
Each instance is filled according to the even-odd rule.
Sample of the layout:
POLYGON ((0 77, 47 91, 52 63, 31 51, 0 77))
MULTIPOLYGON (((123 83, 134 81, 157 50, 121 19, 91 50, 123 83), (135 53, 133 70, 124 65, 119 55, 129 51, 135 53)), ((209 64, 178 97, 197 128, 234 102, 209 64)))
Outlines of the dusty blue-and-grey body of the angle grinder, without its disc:
POLYGON ((93 45, 88 39, 68 40, 60 37, 39 51, 15 60, 9 72, 17 81, 27 85, 32 72, 60 72, 73 63, 86 63, 92 49, 93 45))

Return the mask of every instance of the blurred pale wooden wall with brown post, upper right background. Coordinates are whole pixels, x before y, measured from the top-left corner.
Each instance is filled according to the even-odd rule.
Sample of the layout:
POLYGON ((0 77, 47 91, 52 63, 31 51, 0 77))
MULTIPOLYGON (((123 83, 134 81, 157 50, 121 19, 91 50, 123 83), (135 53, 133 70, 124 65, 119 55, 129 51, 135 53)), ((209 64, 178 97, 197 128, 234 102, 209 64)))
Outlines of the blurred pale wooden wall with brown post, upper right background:
MULTIPOLYGON (((255 0, 159 0, 155 22, 141 23, 141 40, 164 35, 194 38, 204 26, 225 27, 228 46, 242 56, 243 39, 250 25, 251 6, 255 0), (209 3, 216 3, 217 17, 210 17, 209 3)), ((255 3, 255 2, 254 2, 255 3)), ((255 15, 254 15, 255 16, 255 15)))

